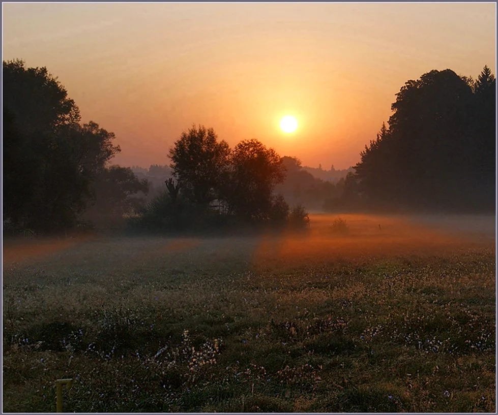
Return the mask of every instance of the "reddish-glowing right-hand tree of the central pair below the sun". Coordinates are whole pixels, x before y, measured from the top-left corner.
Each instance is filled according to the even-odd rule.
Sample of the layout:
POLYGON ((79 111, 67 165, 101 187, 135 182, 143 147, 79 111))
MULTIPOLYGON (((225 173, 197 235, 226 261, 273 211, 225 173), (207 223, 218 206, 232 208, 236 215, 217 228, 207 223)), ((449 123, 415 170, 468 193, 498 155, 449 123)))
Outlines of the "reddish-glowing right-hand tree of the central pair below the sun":
POLYGON ((275 185, 285 177, 280 156, 252 139, 237 144, 230 156, 230 175, 223 199, 229 211, 246 219, 268 219, 275 185))

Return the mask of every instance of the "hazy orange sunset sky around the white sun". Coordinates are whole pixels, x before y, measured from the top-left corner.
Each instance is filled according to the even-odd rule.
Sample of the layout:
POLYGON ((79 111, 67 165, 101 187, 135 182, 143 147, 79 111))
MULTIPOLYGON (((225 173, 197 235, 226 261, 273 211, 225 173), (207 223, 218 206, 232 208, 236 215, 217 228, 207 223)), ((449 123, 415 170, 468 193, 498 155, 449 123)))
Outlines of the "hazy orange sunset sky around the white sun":
POLYGON ((3 60, 46 67, 122 166, 193 124, 346 169, 410 79, 496 70, 494 3, 3 3, 3 60), (294 133, 280 119, 298 120, 294 133))

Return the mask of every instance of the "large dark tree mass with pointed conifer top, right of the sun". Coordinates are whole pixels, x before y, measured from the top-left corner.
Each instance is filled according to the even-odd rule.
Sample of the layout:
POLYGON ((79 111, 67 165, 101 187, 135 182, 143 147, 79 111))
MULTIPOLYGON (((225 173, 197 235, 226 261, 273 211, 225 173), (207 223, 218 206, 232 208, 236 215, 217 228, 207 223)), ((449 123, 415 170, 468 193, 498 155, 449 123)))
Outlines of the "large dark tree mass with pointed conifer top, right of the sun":
POLYGON ((495 88, 487 67, 476 81, 449 69, 407 81, 346 190, 364 207, 493 208, 495 88))

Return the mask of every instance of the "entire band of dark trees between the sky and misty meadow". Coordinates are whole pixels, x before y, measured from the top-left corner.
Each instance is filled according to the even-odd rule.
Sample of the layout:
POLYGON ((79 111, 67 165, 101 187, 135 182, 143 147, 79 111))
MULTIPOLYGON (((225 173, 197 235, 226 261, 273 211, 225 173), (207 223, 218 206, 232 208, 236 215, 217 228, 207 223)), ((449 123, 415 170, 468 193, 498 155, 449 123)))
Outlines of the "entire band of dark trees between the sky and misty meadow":
POLYGON ((406 82, 389 127, 348 171, 302 167, 257 140, 230 149, 201 125, 182 134, 164 166, 111 165, 121 151, 114 134, 81 124, 46 68, 4 61, 3 81, 4 232, 303 226, 304 207, 494 208, 495 78, 487 67, 475 81, 445 70, 406 82))

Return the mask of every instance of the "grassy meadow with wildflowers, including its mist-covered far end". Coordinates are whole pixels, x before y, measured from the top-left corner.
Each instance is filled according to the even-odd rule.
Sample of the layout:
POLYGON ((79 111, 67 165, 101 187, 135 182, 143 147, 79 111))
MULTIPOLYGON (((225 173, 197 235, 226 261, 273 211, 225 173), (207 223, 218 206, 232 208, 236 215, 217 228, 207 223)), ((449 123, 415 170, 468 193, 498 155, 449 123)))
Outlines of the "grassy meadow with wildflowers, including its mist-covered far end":
POLYGON ((4 242, 3 410, 494 412, 494 219, 341 217, 4 242))

